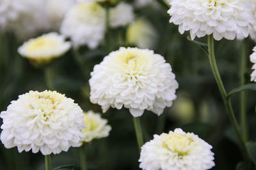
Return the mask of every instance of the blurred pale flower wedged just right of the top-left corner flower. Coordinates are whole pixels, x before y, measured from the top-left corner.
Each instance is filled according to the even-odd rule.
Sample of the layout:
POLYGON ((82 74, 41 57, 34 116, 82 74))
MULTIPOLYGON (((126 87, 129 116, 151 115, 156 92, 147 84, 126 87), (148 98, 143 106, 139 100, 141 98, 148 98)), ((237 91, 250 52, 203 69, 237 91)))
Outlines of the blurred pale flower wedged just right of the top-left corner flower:
POLYGON ((65 14, 76 0, 47 0, 45 13, 50 30, 58 31, 65 14))

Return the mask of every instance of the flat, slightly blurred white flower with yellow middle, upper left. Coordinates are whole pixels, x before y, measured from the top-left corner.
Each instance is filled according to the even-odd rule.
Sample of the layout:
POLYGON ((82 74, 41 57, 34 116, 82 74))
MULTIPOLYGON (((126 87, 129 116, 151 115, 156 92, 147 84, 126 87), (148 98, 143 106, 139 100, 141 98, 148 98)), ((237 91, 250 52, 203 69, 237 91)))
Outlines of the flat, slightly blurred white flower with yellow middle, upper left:
POLYGON ((45 62, 60 57, 70 49, 70 42, 56 32, 44 34, 38 38, 29 39, 19 47, 18 52, 23 57, 35 62, 45 62))

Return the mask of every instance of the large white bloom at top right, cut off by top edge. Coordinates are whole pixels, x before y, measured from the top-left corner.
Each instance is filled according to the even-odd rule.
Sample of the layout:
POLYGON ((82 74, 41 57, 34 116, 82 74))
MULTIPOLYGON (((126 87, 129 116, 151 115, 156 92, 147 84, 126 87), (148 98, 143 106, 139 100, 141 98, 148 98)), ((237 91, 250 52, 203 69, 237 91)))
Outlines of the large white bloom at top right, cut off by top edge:
POLYGON ((247 37, 252 22, 252 1, 243 0, 172 0, 170 22, 179 32, 190 31, 191 39, 213 34, 220 40, 247 37))

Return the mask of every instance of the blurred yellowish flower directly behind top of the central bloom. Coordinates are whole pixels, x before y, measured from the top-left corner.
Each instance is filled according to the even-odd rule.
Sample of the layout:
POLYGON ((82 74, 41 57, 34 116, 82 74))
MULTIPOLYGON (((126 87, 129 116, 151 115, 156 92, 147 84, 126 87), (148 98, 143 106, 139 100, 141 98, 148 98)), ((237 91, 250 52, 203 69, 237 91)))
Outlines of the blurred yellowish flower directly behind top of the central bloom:
POLYGON ((152 48, 157 39, 156 30, 146 20, 139 19, 128 26, 127 42, 139 48, 152 48))

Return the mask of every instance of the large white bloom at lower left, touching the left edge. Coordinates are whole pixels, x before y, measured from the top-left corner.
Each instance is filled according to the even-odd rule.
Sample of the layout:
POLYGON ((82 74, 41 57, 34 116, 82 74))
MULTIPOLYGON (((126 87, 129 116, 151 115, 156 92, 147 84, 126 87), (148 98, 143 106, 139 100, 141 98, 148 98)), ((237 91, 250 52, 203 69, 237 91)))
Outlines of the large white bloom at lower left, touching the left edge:
POLYGON ((29 91, 2 111, 1 141, 19 152, 40 150, 43 155, 67 152, 83 140, 83 111, 74 100, 56 91, 29 91))

